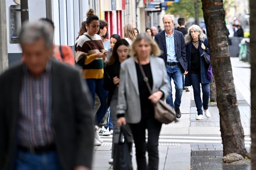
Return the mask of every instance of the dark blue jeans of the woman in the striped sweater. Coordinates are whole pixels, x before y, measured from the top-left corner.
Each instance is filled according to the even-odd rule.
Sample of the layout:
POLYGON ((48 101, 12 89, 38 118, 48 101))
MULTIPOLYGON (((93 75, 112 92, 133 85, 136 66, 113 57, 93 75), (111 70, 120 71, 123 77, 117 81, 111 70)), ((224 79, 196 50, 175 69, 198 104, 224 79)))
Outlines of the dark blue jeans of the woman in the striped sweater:
POLYGON ((86 79, 86 82, 93 98, 93 107, 94 107, 95 93, 99 96, 100 107, 99 107, 99 110, 96 112, 96 117, 95 117, 96 125, 99 125, 102 119, 104 118, 106 111, 108 110, 108 107, 107 107, 108 91, 105 91, 105 89, 103 88, 103 82, 104 82, 103 79, 86 79))

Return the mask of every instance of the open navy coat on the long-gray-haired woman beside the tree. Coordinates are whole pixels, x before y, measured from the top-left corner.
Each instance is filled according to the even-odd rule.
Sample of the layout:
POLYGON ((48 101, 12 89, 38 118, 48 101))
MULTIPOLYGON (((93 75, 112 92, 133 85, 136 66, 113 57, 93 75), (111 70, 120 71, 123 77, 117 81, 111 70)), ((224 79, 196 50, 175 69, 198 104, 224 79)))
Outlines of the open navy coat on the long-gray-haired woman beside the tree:
MULTIPOLYGON (((201 57, 202 50, 203 50, 201 48, 201 45, 202 45, 202 41, 199 41, 198 48, 199 48, 199 59, 200 59, 200 65, 201 65, 201 83, 202 84, 206 84, 206 83, 212 82, 212 79, 208 79, 207 78, 207 70, 208 70, 208 68, 206 68, 204 66, 204 61, 203 61, 203 59, 201 57)), ((209 45, 208 39, 205 38, 204 39, 204 46, 207 47, 207 54, 209 54, 208 45, 209 45)), ((186 45, 186 57, 187 57, 187 61, 188 61, 188 70, 187 71, 189 71, 189 73, 186 74, 186 77, 185 77, 185 86, 191 86, 191 71, 190 71, 190 66, 191 66, 191 47, 192 47, 192 42, 189 42, 186 45)))

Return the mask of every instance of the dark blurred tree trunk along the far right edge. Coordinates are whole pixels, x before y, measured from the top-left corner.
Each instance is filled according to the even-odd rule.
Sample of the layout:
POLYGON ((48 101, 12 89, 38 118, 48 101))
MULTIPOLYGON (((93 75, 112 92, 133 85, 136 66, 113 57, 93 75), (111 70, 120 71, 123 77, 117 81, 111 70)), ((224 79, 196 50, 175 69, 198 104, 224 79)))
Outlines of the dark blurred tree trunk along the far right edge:
POLYGON ((251 164, 253 170, 256 170, 256 33, 253 31, 256 27, 256 3, 250 0, 250 59, 251 59, 251 164))

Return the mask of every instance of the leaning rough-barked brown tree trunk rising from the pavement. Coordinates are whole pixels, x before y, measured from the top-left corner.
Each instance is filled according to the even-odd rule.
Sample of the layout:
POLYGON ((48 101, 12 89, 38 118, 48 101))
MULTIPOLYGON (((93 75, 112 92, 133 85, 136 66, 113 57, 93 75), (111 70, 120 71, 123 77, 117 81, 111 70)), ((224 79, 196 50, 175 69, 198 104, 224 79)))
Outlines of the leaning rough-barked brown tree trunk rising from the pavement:
POLYGON ((227 28, 222 0, 201 0, 209 38, 212 69, 215 76, 224 156, 247 155, 244 130, 237 105, 235 85, 227 44, 227 28))

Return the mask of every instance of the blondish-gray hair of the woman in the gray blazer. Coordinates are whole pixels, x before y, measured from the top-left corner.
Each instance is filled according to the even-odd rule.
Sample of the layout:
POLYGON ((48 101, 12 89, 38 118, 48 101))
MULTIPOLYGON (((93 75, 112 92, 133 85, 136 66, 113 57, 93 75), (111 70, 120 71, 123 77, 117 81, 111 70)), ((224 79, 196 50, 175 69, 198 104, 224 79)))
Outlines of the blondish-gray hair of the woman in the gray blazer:
POLYGON ((137 55, 137 51, 135 51, 135 46, 138 45, 138 43, 141 41, 141 40, 145 40, 146 42, 148 42, 151 46, 151 51, 150 51, 150 54, 153 55, 153 56, 160 56, 161 55, 161 50, 160 48, 158 47, 157 43, 153 40, 153 38, 151 36, 148 35, 148 33, 146 32, 143 32, 143 33, 140 33, 136 39, 134 40, 134 42, 132 43, 131 45, 131 50, 130 50, 130 56, 135 56, 137 55))

